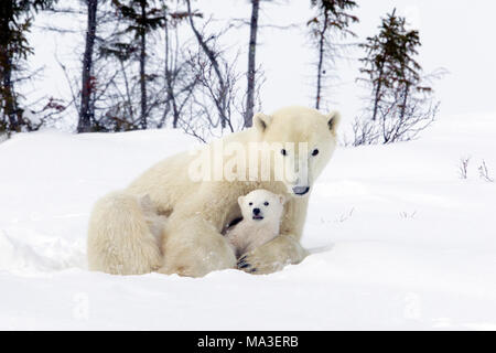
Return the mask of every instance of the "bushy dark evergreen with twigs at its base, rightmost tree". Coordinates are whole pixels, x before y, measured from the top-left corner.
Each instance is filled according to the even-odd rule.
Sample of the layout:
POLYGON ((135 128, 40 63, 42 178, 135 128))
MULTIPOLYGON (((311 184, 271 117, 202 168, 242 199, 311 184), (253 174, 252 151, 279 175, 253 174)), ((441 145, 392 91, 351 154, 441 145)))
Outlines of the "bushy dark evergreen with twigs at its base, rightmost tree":
POLYGON ((360 44, 366 56, 360 60, 365 77, 359 79, 371 88, 371 113, 355 121, 354 145, 409 140, 434 120, 439 103, 424 82, 439 74, 422 76, 416 60, 420 45, 419 31, 408 30, 396 10, 382 19, 378 34, 360 44))

